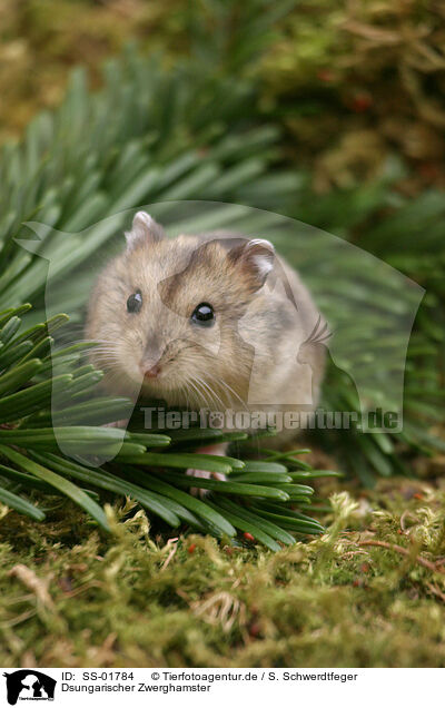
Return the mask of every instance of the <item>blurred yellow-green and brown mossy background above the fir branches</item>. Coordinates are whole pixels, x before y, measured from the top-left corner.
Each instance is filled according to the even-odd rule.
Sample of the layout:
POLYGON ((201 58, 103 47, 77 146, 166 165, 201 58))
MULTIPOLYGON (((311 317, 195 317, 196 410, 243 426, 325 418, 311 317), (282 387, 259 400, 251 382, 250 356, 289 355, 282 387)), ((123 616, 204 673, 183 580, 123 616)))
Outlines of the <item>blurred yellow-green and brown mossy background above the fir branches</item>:
POLYGON ((27 0, 0 3, 0 137, 57 106, 73 65, 101 83, 100 62, 129 40, 166 65, 195 53, 216 73, 259 82, 256 104, 285 129, 286 158, 317 190, 382 174, 397 155, 416 194, 444 185, 444 8, 422 0, 329 2, 27 0), (239 75, 238 75, 239 76, 239 75))

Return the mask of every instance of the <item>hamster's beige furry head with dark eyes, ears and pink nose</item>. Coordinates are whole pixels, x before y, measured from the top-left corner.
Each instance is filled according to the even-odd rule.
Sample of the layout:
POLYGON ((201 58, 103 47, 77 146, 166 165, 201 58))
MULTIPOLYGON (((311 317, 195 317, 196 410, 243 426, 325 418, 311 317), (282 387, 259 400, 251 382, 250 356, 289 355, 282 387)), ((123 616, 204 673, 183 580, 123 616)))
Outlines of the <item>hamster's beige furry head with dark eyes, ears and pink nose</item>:
POLYGON ((192 407, 239 401, 251 358, 238 322, 258 307, 274 267, 271 244, 170 239, 144 212, 126 237, 88 312, 87 336, 98 342, 92 361, 106 389, 121 395, 140 389, 145 397, 192 407))

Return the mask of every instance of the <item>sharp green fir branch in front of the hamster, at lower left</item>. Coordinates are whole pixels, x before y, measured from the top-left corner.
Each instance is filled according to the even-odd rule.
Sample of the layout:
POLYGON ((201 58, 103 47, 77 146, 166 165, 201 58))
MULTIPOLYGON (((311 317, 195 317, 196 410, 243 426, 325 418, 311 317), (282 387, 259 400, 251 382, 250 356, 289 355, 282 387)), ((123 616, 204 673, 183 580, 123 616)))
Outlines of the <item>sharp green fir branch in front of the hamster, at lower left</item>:
MULTIPOLYGON (((22 307, 21 312, 26 309, 22 307)), ((274 550, 279 548, 278 541, 294 542, 289 531, 303 534, 323 532, 323 527, 314 520, 301 520, 293 515, 294 512, 290 517, 286 515, 286 509, 294 508, 295 502, 310 503, 314 490, 294 480, 284 464, 275 460, 245 462, 238 458, 188 452, 191 441, 199 444, 209 437, 221 440, 224 434, 218 430, 184 430, 177 431, 176 435, 174 432, 170 437, 156 432, 135 432, 131 427, 123 434, 119 429, 100 425, 49 425, 51 405, 55 404, 51 389, 57 403, 58 386, 63 387, 63 407, 57 412, 57 417, 62 414, 66 421, 75 421, 76 414, 83 415, 86 410, 89 414, 100 410, 102 422, 112 422, 122 410, 127 413, 131 410, 131 402, 100 393, 95 399, 101 373, 82 362, 90 343, 69 347, 76 361, 70 362, 67 373, 51 377, 51 372, 46 370, 47 378, 38 382, 46 358, 23 362, 27 354, 21 351, 23 335, 16 312, 0 313, 0 318, 6 319, 0 341, 9 346, 11 354, 16 353, 0 373, 3 423, 0 426, 0 501, 32 519, 43 520, 41 507, 44 505, 44 494, 67 496, 108 531, 97 489, 135 499, 150 514, 171 527, 187 524, 218 538, 248 532, 274 550), (21 357, 17 355, 18 351, 21 357), (85 370, 87 373, 82 373, 85 370), (80 389, 77 382, 82 382, 80 389), (79 391, 91 396, 87 403, 76 403, 79 391), (171 443, 175 443, 172 452, 169 451, 171 443), (68 454, 70 451, 71 454, 68 454), (79 462, 91 454, 103 454, 113 460, 100 468, 79 462), (187 476, 184 472, 190 466, 222 472, 228 480, 187 476), (79 482, 85 489, 79 486, 79 482), (189 494, 191 486, 211 493, 202 500, 195 499, 189 494), (263 509, 261 500, 273 501, 280 510, 283 507, 286 529, 278 523, 279 514, 273 519, 267 508, 263 509)), ((50 325, 47 322, 33 328, 37 346, 46 341, 50 325)), ((46 350, 43 353, 49 356, 46 350)), ((239 440, 246 435, 236 434, 234 437, 239 440)), ((287 459, 297 463, 293 456, 287 455, 287 459)), ((304 474, 310 480, 312 469, 306 468, 304 474)))

